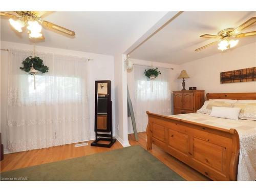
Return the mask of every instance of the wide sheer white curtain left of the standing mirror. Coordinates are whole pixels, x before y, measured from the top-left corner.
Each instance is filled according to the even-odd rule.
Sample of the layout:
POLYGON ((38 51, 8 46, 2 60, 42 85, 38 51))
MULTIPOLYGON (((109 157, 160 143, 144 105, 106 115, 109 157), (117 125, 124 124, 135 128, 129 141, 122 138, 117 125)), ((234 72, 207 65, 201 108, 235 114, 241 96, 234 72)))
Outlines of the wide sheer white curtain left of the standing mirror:
POLYGON ((9 51, 7 148, 32 150, 89 140, 85 58, 36 53, 49 72, 34 76, 19 69, 32 52, 9 51))

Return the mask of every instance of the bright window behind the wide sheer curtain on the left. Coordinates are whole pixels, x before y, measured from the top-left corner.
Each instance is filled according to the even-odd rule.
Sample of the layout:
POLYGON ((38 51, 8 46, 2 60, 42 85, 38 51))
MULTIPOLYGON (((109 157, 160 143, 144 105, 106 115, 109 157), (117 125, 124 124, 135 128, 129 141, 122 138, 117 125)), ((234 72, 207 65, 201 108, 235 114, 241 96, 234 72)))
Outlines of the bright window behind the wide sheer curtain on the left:
POLYGON ((26 83, 22 83, 22 86, 28 86, 21 97, 23 103, 67 103, 81 100, 81 78, 36 75, 36 89, 34 89, 34 76, 27 74, 21 76, 26 79, 26 83))

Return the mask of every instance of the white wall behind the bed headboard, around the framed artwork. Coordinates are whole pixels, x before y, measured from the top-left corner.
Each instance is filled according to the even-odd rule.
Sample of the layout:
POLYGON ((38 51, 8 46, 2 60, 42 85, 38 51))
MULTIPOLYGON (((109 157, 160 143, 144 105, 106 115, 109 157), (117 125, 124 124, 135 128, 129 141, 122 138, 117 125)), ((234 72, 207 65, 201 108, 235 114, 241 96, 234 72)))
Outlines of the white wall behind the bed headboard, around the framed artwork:
POLYGON ((221 72, 250 67, 256 67, 256 42, 184 63, 181 70, 186 70, 190 77, 185 79, 186 89, 197 87, 198 90, 205 90, 205 94, 256 92, 256 81, 220 83, 221 72))

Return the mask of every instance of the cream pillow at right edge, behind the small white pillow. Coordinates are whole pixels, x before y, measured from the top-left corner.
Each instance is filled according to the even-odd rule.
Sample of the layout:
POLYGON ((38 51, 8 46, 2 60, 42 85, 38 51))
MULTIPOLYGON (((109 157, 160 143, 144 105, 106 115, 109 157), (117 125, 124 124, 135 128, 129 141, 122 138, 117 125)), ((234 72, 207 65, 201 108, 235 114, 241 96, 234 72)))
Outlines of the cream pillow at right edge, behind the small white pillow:
POLYGON ((234 103, 234 108, 241 108, 239 119, 256 120, 256 103, 234 103))

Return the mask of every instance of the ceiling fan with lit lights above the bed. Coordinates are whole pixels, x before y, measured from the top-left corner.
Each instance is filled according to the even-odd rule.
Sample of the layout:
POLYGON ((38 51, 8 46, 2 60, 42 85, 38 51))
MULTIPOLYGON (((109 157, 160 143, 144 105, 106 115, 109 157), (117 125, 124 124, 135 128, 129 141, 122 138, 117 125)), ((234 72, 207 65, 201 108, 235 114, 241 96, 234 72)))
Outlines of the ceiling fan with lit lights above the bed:
POLYGON ((242 31, 245 28, 253 25, 255 22, 256 22, 256 17, 251 17, 250 19, 248 19, 245 23, 243 23, 241 26, 239 26, 236 29, 227 28, 227 29, 224 29, 224 30, 220 31, 217 35, 210 35, 210 34, 201 35, 200 37, 215 38, 215 39, 218 39, 218 40, 214 41, 214 42, 211 42, 210 44, 205 45, 203 47, 200 47, 200 48, 196 49, 195 51, 199 51, 199 50, 204 49, 208 46, 214 45, 217 42, 219 42, 218 49, 221 50, 221 51, 232 48, 232 47, 234 47, 238 44, 238 41, 239 41, 238 38, 256 35, 256 31, 250 31, 250 32, 239 34, 240 31, 242 31))

